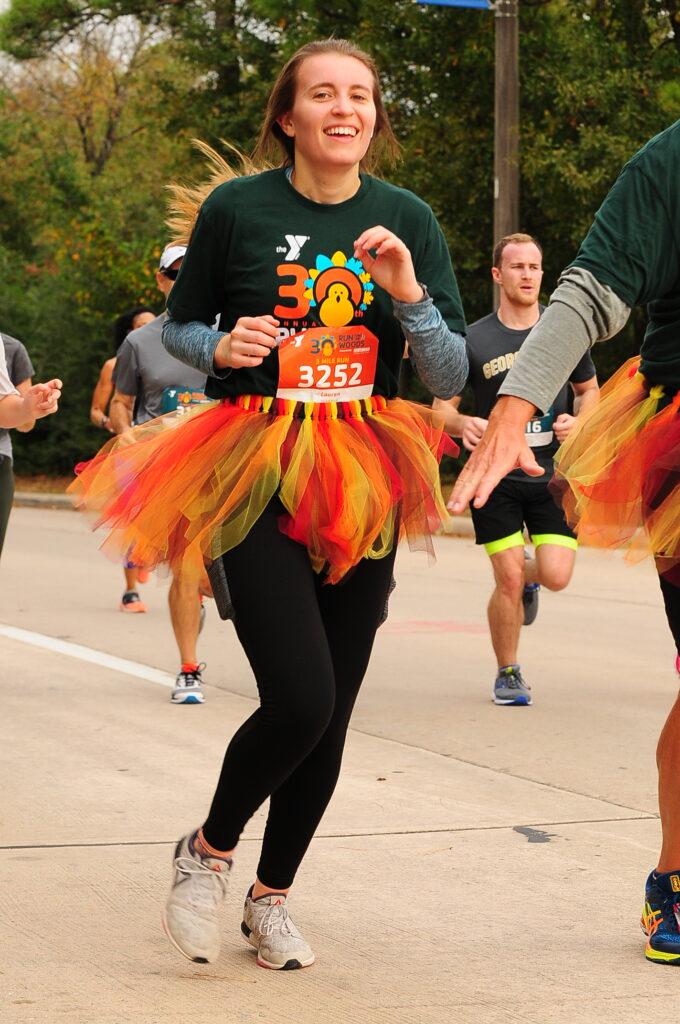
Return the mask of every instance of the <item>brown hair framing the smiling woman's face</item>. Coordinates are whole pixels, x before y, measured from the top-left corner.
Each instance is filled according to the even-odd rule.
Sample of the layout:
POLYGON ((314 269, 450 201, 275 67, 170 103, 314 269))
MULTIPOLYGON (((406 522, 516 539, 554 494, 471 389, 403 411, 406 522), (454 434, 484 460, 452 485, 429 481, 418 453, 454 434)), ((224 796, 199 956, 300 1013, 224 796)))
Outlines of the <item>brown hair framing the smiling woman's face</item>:
POLYGON ((399 154, 399 143, 389 123, 387 111, 383 103, 378 80, 378 69, 373 57, 346 39, 320 39, 306 43, 293 54, 279 74, 269 95, 269 102, 264 114, 260 136, 253 153, 256 162, 279 159, 281 166, 287 167, 295 162, 295 140, 290 138, 279 124, 279 119, 288 114, 295 102, 298 69, 307 57, 320 53, 339 53, 345 57, 360 60, 373 76, 373 101, 376 105, 376 127, 371 145, 364 157, 360 168, 372 171, 382 159, 394 163, 399 154), (282 153, 283 151, 283 153, 282 153), (281 159, 283 156, 283 160, 281 159))

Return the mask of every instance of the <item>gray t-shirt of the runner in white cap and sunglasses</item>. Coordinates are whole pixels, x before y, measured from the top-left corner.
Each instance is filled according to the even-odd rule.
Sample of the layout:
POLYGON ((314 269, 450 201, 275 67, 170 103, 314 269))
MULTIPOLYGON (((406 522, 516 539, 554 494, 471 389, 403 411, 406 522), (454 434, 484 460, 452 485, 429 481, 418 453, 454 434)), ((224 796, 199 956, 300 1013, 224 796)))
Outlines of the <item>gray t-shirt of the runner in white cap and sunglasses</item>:
POLYGON ((180 362, 163 347, 165 313, 131 331, 118 350, 114 384, 122 394, 137 399, 134 422, 146 423, 163 413, 166 388, 203 391, 206 375, 180 362))

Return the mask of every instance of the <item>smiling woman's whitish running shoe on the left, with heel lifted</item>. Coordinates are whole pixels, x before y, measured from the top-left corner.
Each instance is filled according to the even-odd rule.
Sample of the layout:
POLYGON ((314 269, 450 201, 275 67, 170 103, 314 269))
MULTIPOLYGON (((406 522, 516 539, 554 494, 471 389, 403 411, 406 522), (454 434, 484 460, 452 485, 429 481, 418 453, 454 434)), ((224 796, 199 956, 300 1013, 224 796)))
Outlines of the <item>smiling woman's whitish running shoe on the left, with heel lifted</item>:
POLYGON ((175 847, 174 878, 163 909, 163 928, 175 949, 196 964, 217 959, 219 908, 228 886, 230 857, 202 857, 193 836, 175 847))

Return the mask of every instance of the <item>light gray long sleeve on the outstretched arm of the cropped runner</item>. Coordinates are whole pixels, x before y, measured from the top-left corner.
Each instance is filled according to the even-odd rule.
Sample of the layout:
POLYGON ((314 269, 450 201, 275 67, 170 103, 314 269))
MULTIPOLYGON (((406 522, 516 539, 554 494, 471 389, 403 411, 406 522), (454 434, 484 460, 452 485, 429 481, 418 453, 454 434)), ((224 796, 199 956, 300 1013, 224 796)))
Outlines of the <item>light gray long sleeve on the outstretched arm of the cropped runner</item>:
POLYGON ((630 311, 589 270, 568 267, 499 388, 499 397, 515 395, 545 412, 584 353, 596 341, 618 334, 630 311))

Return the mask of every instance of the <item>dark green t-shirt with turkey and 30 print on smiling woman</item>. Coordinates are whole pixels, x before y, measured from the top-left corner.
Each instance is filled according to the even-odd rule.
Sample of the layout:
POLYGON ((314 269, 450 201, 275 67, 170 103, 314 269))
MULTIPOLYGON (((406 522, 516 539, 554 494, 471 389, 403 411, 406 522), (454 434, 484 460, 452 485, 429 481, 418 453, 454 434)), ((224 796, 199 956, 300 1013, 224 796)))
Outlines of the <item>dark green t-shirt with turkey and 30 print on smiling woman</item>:
MULTIPOLYGON (((305 328, 358 325, 379 341, 373 393, 397 392, 405 339, 392 300, 353 258, 354 240, 381 224, 409 247, 416 276, 427 286, 452 331, 465 319, 449 249, 434 214, 413 193, 363 174, 358 191, 324 205, 293 188, 283 169, 219 185, 204 203, 168 299, 173 319, 230 331, 240 316, 266 313, 279 336, 305 328)), ((279 353, 259 367, 208 378, 213 398, 273 395, 279 353)))

